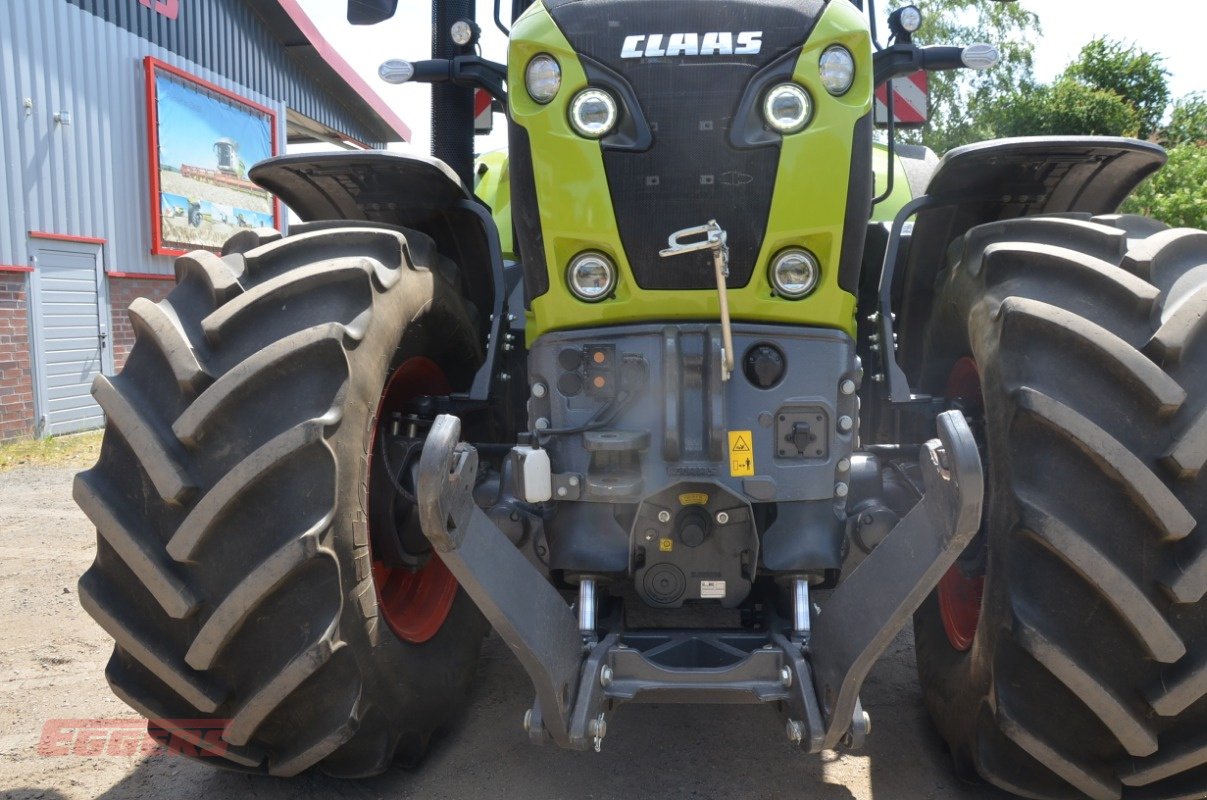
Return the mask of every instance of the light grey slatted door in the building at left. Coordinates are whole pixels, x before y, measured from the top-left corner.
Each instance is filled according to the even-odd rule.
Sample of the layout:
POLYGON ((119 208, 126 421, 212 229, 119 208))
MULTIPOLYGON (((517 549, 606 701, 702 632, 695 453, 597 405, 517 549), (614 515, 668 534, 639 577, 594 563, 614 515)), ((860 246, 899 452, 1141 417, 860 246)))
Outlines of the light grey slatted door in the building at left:
POLYGON ((112 370, 109 319, 101 305, 100 245, 37 243, 34 247, 34 326, 40 428, 43 434, 105 424, 89 390, 112 370))

